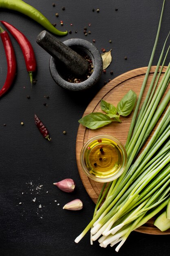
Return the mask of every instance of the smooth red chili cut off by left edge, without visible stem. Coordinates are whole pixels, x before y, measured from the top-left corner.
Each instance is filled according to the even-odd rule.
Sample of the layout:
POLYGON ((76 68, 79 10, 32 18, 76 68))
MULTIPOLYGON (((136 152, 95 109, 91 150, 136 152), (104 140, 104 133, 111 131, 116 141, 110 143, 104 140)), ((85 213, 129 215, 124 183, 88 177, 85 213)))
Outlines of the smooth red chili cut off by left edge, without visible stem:
POLYGON ((4 31, 2 27, 0 27, 0 37, 2 39, 2 43, 4 45, 4 50, 7 58, 7 78, 2 89, 0 90, 1 97, 4 93, 6 93, 9 90, 13 83, 16 74, 17 63, 9 34, 7 31, 4 31))

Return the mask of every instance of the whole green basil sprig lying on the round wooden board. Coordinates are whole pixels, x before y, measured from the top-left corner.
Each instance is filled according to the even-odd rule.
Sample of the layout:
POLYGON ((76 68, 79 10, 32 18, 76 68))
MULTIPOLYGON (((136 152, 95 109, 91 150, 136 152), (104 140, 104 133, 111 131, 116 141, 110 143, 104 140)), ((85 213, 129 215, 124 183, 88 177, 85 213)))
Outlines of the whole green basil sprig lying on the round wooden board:
POLYGON ((121 123, 121 116, 128 116, 136 102, 137 95, 130 90, 117 104, 117 108, 101 99, 100 107, 106 113, 93 112, 79 119, 79 123, 90 129, 97 129, 107 124, 117 121, 121 123), (118 113, 118 115, 117 115, 118 113))

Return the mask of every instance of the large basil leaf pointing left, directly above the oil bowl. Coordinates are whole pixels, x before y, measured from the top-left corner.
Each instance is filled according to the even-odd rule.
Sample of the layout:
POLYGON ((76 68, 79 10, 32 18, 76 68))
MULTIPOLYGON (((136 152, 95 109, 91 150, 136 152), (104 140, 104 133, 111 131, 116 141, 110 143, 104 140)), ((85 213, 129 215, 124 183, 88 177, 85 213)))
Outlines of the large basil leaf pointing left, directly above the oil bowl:
POLYGON ((90 113, 82 119, 79 119, 80 124, 90 129, 97 129, 111 122, 110 117, 100 112, 90 113))

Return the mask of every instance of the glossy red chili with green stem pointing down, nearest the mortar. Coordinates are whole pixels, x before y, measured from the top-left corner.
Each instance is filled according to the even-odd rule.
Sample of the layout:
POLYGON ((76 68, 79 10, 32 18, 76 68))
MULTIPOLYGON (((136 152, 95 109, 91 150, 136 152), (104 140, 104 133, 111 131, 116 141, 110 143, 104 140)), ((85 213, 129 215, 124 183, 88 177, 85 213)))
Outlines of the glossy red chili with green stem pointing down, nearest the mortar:
POLYGON ((13 25, 9 24, 4 20, 1 20, 1 23, 9 30, 9 32, 20 45, 25 59, 26 70, 29 72, 30 81, 32 85, 33 72, 35 72, 37 67, 33 47, 29 40, 26 38, 26 36, 24 36, 24 34, 22 34, 22 32, 20 32, 18 29, 13 27, 13 25))

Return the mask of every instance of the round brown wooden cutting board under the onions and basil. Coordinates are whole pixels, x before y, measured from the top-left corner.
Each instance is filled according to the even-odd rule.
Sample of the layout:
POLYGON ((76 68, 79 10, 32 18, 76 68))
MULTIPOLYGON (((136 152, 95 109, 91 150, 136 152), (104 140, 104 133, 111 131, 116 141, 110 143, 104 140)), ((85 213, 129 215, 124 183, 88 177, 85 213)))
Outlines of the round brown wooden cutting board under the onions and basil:
MULTIPOLYGON (((131 70, 126 72, 109 83, 107 83, 94 97, 91 103, 88 105, 84 112, 84 116, 88 115, 91 112, 102 112, 100 108, 100 100, 104 99, 108 103, 112 103, 114 106, 117 106, 117 103, 124 97, 124 95, 129 91, 133 90, 136 92, 137 96, 139 95, 142 82, 144 80, 144 76, 146 74, 147 67, 141 67, 135 70, 131 70)), ((152 79, 153 73, 155 71, 155 67, 152 67, 150 70, 150 74, 148 77, 146 89, 144 91, 144 96, 148 90, 148 86, 152 79)), ((166 71, 166 67, 163 68, 161 76, 166 71)), ((91 130, 88 129, 81 124, 79 125, 79 129, 77 132, 77 140, 76 140, 76 159, 77 159, 77 166, 79 170, 79 175, 81 180, 84 184, 84 187, 91 197, 93 202, 97 202, 97 198, 99 193, 102 189, 103 183, 95 182, 89 179, 84 171, 82 170, 80 164, 80 152, 82 150, 83 145, 86 143, 88 139, 95 135, 107 134, 112 135, 119 139, 123 144, 126 143, 126 138, 128 135, 128 129, 130 126, 130 121, 132 119, 132 113, 128 117, 121 117, 122 123, 111 123, 107 126, 102 128, 91 130)), ((167 231, 161 232, 153 225, 154 219, 149 220, 145 225, 136 229, 136 231, 146 234, 170 234, 170 229, 167 231)))

